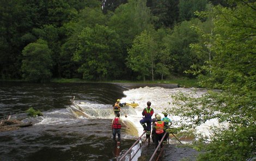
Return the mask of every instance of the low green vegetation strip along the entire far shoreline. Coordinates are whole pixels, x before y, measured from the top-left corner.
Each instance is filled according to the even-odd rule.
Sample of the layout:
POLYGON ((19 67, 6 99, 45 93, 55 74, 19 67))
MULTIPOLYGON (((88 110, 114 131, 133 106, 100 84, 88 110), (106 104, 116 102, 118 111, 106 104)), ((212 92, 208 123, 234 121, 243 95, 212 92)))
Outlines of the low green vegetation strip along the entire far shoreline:
MULTIPOLYGON (((0 82, 27 82, 23 79, 0 79, 0 82)), ((53 78, 50 82, 53 83, 113 83, 118 85, 124 85, 125 88, 129 88, 129 86, 155 86, 155 84, 163 87, 163 88, 199 88, 200 86, 197 84, 197 79, 189 79, 189 78, 174 78, 170 80, 148 80, 148 81, 132 81, 132 80, 106 80, 106 81, 88 81, 79 78, 53 78), (167 85, 169 84, 169 85, 167 85)))

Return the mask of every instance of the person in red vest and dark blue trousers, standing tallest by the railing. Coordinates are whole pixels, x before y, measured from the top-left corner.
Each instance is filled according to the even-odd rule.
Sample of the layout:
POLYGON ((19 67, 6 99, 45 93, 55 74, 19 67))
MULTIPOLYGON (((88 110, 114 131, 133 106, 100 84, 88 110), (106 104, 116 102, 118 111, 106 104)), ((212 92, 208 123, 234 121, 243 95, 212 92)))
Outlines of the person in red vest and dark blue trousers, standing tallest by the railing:
POLYGON ((144 116, 143 119, 141 121, 139 121, 141 123, 141 125, 143 126, 143 130, 147 131, 146 133, 146 139, 148 139, 150 137, 150 133, 151 133, 151 116, 154 114, 154 109, 151 108, 151 102, 147 102, 147 108, 143 109, 142 115, 144 116), (145 123, 147 123, 147 126, 145 125, 145 123))

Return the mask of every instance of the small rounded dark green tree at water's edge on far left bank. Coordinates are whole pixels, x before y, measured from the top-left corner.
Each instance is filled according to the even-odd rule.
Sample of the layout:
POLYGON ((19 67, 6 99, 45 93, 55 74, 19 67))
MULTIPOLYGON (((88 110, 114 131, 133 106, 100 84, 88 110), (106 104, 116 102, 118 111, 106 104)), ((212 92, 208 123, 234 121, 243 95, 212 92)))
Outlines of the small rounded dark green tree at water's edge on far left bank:
POLYGON ((52 51, 44 40, 39 39, 27 45, 22 51, 22 77, 29 82, 47 82, 50 80, 52 76, 51 53, 52 51))

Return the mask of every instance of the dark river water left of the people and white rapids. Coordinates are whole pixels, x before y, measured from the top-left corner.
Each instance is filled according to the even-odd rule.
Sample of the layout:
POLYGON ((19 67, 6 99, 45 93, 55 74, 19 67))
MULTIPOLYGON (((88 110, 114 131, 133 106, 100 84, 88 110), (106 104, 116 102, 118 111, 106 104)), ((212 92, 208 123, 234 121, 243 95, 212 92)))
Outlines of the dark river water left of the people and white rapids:
MULTIPOLYGON (((100 83, 1 82, 1 119, 24 116, 29 107, 44 116, 36 118, 31 127, 0 132, 0 160, 113 160, 111 119, 77 119, 66 108, 73 96, 111 106, 124 96, 123 90, 100 83)), ((122 140, 121 149, 133 142, 122 140)))

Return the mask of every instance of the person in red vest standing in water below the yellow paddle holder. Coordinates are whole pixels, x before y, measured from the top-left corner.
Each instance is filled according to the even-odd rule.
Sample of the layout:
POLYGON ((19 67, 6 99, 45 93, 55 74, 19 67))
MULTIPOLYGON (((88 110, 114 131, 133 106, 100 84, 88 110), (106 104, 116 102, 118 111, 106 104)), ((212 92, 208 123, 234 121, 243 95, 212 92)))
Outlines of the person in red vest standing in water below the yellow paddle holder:
POLYGON ((115 140, 116 135, 118 135, 118 141, 121 140, 121 124, 123 124, 127 128, 130 128, 124 123, 123 120, 121 120, 120 113, 117 113, 117 116, 114 117, 111 123, 113 140, 115 140))

